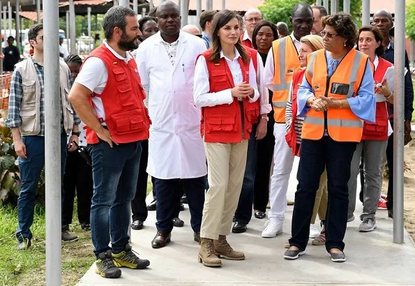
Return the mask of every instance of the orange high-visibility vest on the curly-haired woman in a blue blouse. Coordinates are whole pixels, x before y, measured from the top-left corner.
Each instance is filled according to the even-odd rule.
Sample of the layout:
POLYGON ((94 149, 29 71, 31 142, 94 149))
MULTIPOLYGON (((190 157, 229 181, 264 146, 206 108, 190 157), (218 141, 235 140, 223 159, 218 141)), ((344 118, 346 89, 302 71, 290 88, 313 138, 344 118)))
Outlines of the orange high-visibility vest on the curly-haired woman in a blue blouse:
MULTIPOLYGON (((307 62, 305 78, 315 96, 343 100, 357 95, 368 56, 354 49, 350 50, 330 77, 327 75, 326 50, 312 52, 308 55, 307 62)), ((360 142, 363 121, 349 108, 329 108, 325 112, 310 109, 304 119, 301 138, 319 140, 325 129, 335 141, 360 142)))

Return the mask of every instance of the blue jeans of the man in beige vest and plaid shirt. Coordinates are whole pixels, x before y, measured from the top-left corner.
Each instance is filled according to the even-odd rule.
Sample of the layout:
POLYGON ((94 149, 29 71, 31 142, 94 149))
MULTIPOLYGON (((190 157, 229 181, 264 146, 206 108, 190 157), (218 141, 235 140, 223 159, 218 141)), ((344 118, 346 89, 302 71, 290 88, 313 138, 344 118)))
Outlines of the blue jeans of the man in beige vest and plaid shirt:
MULTIPOLYGON (((27 159, 18 158, 20 179, 22 188, 17 200, 17 216, 19 227, 16 237, 18 241, 31 239, 30 227, 33 224, 33 213, 35 209, 35 197, 38 190, 40 172, 45 166, 45 137, 22 136, 22 142, 26 145, 27 159)), ((61 133, 61 176, 65 172, 66 164, 66 133, 61 133)), ((63 188, 61 188, 61 202, 63 202, 63 188)))

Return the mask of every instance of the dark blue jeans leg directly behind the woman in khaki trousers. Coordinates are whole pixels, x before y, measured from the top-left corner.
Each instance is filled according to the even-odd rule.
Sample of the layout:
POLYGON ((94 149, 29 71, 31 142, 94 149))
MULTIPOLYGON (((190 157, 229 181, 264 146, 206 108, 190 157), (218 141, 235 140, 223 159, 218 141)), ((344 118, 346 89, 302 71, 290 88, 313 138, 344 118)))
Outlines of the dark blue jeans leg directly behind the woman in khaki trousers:
POLYGON ((248 225, 252 217, 252 204, 254 202, 255 175, 257 174, 257 124, 252 126, 248 141, 248 153, 246 156, 245 174, 243 174, 243 185, 239 195, 238 208, 235 212, 235 220, 248 225))

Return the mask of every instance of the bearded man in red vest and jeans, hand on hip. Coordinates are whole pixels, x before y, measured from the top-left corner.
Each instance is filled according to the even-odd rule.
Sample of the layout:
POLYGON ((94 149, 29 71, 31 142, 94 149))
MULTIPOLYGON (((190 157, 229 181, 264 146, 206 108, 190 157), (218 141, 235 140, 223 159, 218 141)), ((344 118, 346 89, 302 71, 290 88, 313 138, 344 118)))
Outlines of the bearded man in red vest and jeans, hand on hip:
POLYGON ((142 36, 137 14, 125 6, 112 7, 103 27, 107 40, 84 61, 69 100, 87 126, 86 142, 91 146, 96 273, 118 278, 118 267, 143 269, 150 264, 128 243, 141 141, 149 138, 150 119, 137 65, 128 52, 137 49, 142 36))

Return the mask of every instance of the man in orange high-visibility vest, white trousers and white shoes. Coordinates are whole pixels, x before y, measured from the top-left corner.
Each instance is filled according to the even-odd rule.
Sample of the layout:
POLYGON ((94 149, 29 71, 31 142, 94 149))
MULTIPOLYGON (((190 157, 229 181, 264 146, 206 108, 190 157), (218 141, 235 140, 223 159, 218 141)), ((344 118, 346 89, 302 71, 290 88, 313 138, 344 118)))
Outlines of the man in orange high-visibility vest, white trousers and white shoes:
POLYGON ((289 174, 292 170, 294 156, 285 141, 285 106, 292 82, 292 75, 300 70, 300 39, 310 35, 313 23, 312 8, 308 3, 300 2, 294 6, 292 17, 289 17, 293 32, 275 40, 266 58, 264 84, 273 91, 273 110, 276 123, 274 125, 274 168, 271 176, 269 200, 271 210, 269 222, 262 232, 262 237, 274 237, 282 233, 284 213, 287 206, 287 188, 289 174))

